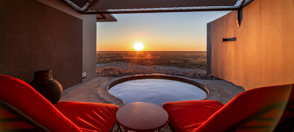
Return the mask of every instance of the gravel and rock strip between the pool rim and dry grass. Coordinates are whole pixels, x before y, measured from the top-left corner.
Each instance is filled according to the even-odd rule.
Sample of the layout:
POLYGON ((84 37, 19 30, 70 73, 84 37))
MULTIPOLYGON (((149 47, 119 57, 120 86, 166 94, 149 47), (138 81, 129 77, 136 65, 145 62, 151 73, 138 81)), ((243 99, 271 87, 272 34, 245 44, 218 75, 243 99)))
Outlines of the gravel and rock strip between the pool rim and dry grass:
POLYGON ((141 66, 126 62, 111 62, 105 64, 96 64, 97 76, 100 77, 118 77, 129 75, 146 75, 146 74, 165 74, 172 76, 183 76, 187 78, 204 79, 204 80, 221 80, 218 77, 206 73, 206 70, 178 68, 174 66, 141 66))

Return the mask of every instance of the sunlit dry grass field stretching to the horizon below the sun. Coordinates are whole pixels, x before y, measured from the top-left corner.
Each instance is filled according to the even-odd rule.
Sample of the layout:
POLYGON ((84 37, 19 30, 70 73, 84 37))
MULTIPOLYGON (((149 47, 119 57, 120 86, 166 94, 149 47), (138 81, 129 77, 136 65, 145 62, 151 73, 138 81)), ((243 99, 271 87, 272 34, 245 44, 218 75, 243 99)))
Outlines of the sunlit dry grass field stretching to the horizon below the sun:
POLYGON ((163 65, 206 70, 206 51, 97 51, 96 62, 128 62, 144 66, 163 65))

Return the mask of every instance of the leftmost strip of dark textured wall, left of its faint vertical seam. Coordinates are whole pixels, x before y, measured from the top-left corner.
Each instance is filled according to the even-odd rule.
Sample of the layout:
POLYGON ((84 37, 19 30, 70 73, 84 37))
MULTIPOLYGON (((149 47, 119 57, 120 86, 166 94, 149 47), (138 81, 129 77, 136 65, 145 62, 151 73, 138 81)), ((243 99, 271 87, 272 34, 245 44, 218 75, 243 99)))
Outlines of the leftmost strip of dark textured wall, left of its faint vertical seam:
POLYGON ((20 78, 21 0, 0 0, 0 74, 20 78), (8 8, 9 7, 9 8, 8 8))

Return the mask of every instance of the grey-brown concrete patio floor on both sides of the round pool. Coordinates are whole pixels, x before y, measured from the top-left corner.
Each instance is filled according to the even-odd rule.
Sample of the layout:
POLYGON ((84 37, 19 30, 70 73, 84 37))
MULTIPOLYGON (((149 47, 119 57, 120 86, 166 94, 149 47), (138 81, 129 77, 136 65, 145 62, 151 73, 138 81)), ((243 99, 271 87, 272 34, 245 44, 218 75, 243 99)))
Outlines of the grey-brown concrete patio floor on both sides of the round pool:
MULTIPOLYGON (((121 107, 125 105, 123 101, 108 93, 107 86, 105 85, 106 82, 119 78, 124 77, 95 77, 76 86, 67 88, 63 91, 60 102, 80 101, 110 103, 121 107), (101 90, 104 92, 101 92, 101 90)), ((240 89, 224 80, 188 79, 205 86, 209 90, 209 98, 205 98, 206 100, 216 100, 223 104, 228 103, 232 98, 244 91, 244 89, 240 89)))

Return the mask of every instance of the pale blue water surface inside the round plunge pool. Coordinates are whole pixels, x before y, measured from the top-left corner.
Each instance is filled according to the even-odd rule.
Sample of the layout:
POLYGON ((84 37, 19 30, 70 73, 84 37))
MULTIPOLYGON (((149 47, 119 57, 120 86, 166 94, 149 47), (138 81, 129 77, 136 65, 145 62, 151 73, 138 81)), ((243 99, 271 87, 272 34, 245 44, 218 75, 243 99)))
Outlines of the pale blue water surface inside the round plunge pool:
POLYGON ((140 79, 119 83, 108 92, 126 104, 146 102, 162 106, 171 101, 201 100, 206 92, 197 86, 166 79, 140 79))

